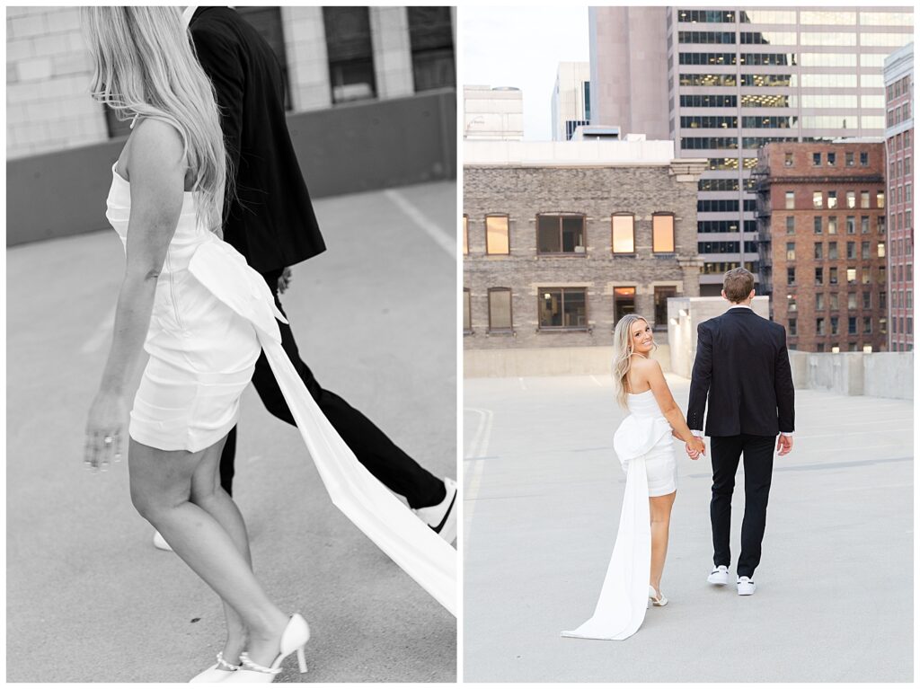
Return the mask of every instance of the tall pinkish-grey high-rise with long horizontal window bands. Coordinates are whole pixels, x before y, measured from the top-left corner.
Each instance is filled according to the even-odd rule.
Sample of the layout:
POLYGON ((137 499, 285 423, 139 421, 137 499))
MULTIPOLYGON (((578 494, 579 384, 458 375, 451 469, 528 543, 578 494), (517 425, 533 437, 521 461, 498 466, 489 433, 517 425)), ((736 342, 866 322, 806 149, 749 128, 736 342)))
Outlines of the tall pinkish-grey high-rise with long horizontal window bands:
POLYGON ((697 216, 703 295, 719 293, 725 270, 758 273, 757 149, 881 137, 882 63, 914 35, 909 7, 598 7, 590 20, 592 121, 659 136, 648 113, 667 113, 677 155, 708 160, 697 216))

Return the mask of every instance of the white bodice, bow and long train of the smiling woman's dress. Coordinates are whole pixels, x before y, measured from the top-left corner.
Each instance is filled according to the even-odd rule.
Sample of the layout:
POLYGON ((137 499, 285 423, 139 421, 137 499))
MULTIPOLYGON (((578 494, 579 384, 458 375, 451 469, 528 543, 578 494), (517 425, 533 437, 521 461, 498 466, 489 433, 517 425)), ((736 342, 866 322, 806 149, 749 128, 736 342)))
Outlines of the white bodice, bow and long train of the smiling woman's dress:
POLYGON ((628 397, 630 416, 623 420, 614 436, 614 450, 627 472, 627 488, 601 595, 591 619, 563 637, 600 638, 620 641, 631 637, 642 626, 649 603, 651 569, 651 527, 649 479, 646 462, 658 459, 673 447, 664 446, 671 426, 661 415, 654 396, 628 397))

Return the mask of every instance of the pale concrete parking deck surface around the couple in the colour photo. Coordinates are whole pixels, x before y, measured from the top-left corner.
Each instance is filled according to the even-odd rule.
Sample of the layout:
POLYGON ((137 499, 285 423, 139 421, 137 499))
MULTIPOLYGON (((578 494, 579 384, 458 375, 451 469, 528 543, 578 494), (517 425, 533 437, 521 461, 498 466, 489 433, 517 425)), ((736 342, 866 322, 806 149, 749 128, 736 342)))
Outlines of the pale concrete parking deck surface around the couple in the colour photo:
MULTIPOLYGON (((669 382, 685 411, 688 381, 669 382)), ((634 637, 595 641, 559 632, 591 616, 619 520, 609 376, 464 385, 466 681, 913 680, 912 402, 797 392, 751 597, 707 584, 711 467, 675 443, 670 603, 634 637)), ((732 557, 742 486, 740 468, 732 557)))

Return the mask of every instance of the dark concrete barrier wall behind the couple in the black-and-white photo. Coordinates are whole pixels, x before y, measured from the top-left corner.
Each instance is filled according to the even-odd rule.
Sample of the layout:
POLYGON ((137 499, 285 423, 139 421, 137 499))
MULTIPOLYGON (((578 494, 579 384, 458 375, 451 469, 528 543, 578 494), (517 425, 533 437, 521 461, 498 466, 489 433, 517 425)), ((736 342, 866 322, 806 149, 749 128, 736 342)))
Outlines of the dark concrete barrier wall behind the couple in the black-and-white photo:
MULTIPOLYGON (((315 198, 456 178, 456 92, 288 116, 315 198)), ((6 162, 6 246, 108 226, 111 166, 124 139, 6 162)))

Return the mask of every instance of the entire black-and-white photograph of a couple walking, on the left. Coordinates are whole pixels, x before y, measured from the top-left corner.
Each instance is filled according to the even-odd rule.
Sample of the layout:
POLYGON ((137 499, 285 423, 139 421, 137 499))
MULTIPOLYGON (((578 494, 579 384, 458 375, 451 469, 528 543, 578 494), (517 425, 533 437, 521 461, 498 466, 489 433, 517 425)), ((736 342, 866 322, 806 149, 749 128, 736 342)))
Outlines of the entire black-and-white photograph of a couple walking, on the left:
POLYGON ((6 7, 7 682, 456 682, 455 24, 6 7))

